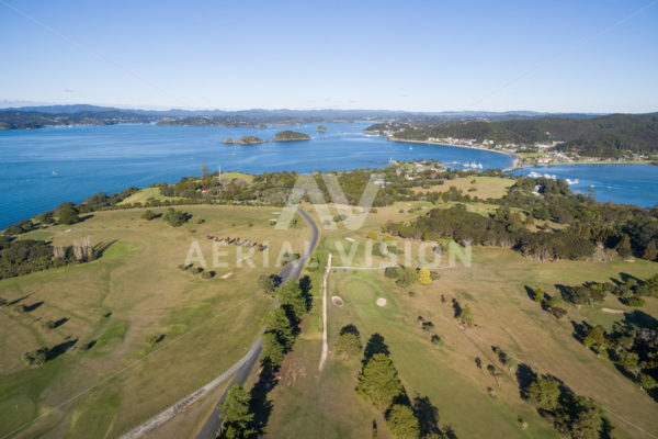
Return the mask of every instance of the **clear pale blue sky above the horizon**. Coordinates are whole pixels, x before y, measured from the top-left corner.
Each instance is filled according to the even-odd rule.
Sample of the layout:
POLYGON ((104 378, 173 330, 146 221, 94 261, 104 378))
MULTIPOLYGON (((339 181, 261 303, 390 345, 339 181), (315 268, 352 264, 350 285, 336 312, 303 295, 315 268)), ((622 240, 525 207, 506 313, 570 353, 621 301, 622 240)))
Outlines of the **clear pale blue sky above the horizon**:
POLYGON ((0 100, 658 111, 655 3, 0 0, 0 100))

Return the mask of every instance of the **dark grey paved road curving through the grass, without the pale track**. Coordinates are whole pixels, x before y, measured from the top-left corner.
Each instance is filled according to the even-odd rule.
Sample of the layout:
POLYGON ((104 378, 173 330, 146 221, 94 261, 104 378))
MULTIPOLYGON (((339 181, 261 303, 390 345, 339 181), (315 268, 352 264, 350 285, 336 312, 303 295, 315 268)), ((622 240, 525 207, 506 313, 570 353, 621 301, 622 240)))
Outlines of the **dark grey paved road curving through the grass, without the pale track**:
MULTIPOLYGON (((282 283, 285 283, 288 279, 298 279, 299 278, 299 274, 302 274, 302 269, 304 268, 304 263, 310 257, 310 254, 313 252, 313 249, 315 248, 315 246, 318 241, 318 227, 316 226, 316 224, 313 222, 313 219, 310 219, 308 214, 306 212, 304 212, 303 210, 297 207, 297 212, 310 225, 310 230, 311 230, 310 245, 308 246, 308 248, 306 248, 306 250, 304 251, 304 255, 302 255, 302 257, 299 259, 297 259, 294 262, 286 263, 284 267, 281 268, 281 271, 279 272, 279 277, 281 278, 282 283)), ((276 299, 276 302, 274 303, 274 308, 276 308, 277 306, 279 306, 279 297, 276 299)), ((263 334, 264 330, 265 330, 265 328, 263 328, 261 330, 261 334, 263 334)), ((232 387, 234 384, 245 384, 245 382, 247 381, 247 379, 253 371, 253 368, 258 363, 258 359, 260 358, 260 354, 262 351, 262 347, 261 347, 262 341, 263 341, 262 337, 259 337, 258 340, 256 340, 256 342, 249 350, 249 352, 247 353, 247 356, 245 356, 242 358, 242 360, 246 359, 246 361, 242 363, 242 365, 236 372, 236 375, 234 376, 234 379, 231 380, 230 384, 227 387, 227 392, 228 392, 228 389, 232 387)), ((240 361, 242 361, 242 360, 240 360, 240 361)), ((224 395, 222 395, 222 398, 219 398, 217 406, 219 406, 222 403, 224 403, 224 401, 226 399, 227 392, 224 392, 224 395)), ((196 439, 215 439, 215 436, 217 435, 219 427, 222 427, 222 410, 219 410, 219 408, 217 408, 217 406, 215 407, 215 409, 213 410, 213 413, 211 414, 211 416, 204 424, 203 428, 196 436, 196 439)))

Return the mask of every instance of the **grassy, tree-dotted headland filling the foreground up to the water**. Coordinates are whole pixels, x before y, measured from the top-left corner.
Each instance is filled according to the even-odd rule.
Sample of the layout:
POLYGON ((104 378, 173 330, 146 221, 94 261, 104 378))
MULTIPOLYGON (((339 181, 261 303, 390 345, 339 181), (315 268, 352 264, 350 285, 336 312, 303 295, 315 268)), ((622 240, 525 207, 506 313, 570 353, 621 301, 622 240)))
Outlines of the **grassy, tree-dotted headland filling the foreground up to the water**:
MULTIPOLYGON (((225 393, 222 435, 234 437, 658 429, 656 209, 432 160, 389 165, 374 183, 371 172, 336 172, 348 204, 327 218, 303 202, 309 219, 295 213, 287 228, 276 224, 296 172, 207 171, 8 227, 0 434, 120 437, 193 401, 146 437, 195 438, 225 393), (366 212, 368 184, 379 190, 366 212), (311 224, 317 244, 282 283, 311 224), (451 266, 451 251, 470 257, 451 266), (190 396, 263 325, 243 381, 190 396)), ((324 177, 304 178, 331 200, 324 177)))

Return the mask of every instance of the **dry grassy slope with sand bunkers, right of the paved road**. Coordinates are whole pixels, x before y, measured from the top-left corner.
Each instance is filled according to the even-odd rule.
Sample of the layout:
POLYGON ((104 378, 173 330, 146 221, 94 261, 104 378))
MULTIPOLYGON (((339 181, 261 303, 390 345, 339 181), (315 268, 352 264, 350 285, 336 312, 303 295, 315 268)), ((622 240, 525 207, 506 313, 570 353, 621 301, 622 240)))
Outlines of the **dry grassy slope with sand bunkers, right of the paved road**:
MULTIPOLYGON (((397 209, 379 209, 359 232, 325 230, 319 251, 331 250, 334 264, 341 263, 340 258, 336 258, 337 243, 349 248, 350 243, 344 237, 362 243, 368 230, 376 230, 392 217, 407 215, 398 214, 397 209)), ((416 247, 413 243, 412 248, 416 247)), ((362 256, 359 249, 354 266, 362 264, 362 256)), ((407 290, 396 286, 379 271, 337 270, 330 277, 329 295, 340 295, 345 304, 342 307, 329 304, 329 346, 331 350, 338 330, 348 323, 359 327, 364 344, 371 334, 382 334, 410 396, 416 393, 429 396, 439 408, 440 424, 451 425, 460 438, 558 437, 549 423, 521 399, 512 373, 502 371, 498 389, 491 376, 476 368, 474 359, 480 357, 485 364, 492 363, 501 370, 491 352, 492 345, 542 373, 560 378, 575 392, 602 403, 616 426, 615 437, 643 437, 639 430, 616 416, 647 431, 657 431, 656 403, 571 335, 570 320, 587 318, 611 325, 620 316, 603 313, 600 306, 576 309, 567 305, 569 315, 556 320, 527 297, 524 286, 542 285, 551 294, 556 283, 604 281, 619 278, 622 272, 646 278, 656 271, 658 264, 644 261, 542 263, 511 250, 476 248, 470 268, 457 266, 443 270, 442 278, 433 284, 413 285, 416 296, 409 297, 407 290), (441 303, 441 294, 447 299, 445 304, 441 303), (377 297, 387 299, 388 306, 376 307, 377 297), (450 304, 452 297, 472 305, 477 328, 458 329, 450 304), (430 344, 428 333, 417 323, 418 315, 434 323, 435 331, 445 340, 444 347, 430 344), (488 387, 496 390, 496 397, 489 396, 488 387), (529 423, 525 430, 519 427, 519 417, 529 423)), ((285 360, 284 379, 272 392, 273 413, 266 436, 368 437, 372 421, 376 419, 378 437, 386 437, 381 416, 355 395, 358 362, 345 364, 330 354, 325 371, 317 372, 319 306, 320 301, 316 299, 305 333, 285 360), (297 371, 296 380, 286 381, 291 369, 297 371)), ((603 306, 628 309, 614 297, 609 297, 603 306)), ((658 301, 649 299, 644 311, 658 315, 658 301)))

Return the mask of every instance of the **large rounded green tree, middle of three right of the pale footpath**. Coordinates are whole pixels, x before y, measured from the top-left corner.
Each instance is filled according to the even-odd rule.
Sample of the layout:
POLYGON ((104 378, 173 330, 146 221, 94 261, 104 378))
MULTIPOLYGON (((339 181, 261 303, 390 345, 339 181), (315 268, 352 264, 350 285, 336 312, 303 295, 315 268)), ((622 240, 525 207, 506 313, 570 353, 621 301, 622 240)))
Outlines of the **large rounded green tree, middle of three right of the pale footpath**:
POLYGON ((388 356, 375 353, 365 363, 359 375, 356 392, 379 410, 388 408, 402 394, 402 384, 388 356))

